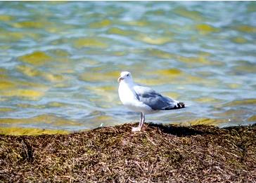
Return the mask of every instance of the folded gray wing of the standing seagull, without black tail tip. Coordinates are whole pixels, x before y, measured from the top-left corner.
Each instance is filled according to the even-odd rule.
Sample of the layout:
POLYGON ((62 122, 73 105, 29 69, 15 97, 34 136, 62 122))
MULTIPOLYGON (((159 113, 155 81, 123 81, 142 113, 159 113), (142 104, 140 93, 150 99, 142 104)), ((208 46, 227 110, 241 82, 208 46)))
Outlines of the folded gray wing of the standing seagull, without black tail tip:
POLYGON ((177 109, 179 102, 172 98, 162 96, 151 88, 145 86, 134 86, 136 97, 139 101, 147 104, 153 110, 177 109))

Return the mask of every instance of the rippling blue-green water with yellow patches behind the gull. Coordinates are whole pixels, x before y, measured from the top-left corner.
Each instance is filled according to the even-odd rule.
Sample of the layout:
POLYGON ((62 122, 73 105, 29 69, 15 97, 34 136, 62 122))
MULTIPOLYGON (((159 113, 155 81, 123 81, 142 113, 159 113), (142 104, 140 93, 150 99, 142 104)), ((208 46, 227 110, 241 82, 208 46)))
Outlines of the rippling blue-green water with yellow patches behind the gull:
POLYGON ((146 121, 256 121, 255 2, 2 1, 0 26, 1 133, 138 121, 117 95, 124 70, 189 104, 146 121))

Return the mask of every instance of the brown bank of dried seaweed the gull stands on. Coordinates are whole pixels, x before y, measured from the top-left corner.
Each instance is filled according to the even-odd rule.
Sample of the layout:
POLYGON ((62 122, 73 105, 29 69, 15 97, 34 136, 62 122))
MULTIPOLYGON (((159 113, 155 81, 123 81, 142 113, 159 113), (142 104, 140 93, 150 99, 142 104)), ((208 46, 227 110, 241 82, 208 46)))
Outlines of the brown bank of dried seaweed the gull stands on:
POLYGON ((0 135, 1 182, 256 182, 256 125, 0 135))

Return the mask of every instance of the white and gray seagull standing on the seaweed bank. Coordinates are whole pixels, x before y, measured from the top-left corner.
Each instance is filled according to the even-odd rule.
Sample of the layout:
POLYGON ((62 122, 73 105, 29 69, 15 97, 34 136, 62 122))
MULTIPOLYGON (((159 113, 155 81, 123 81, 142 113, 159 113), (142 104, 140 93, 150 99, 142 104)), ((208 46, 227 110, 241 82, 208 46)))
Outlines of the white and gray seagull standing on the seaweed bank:
POLYGON ((117 81, 119 82, 118 95, 122 104, 132 111, 141 113, 139 126, 132 128, 133 132, 141 130, 145 122, 145 114, 185 107, 183 102, 162 96, 149 87, 137 85, 132 80, 130 72, 121 72, 120 78, 117 81))

